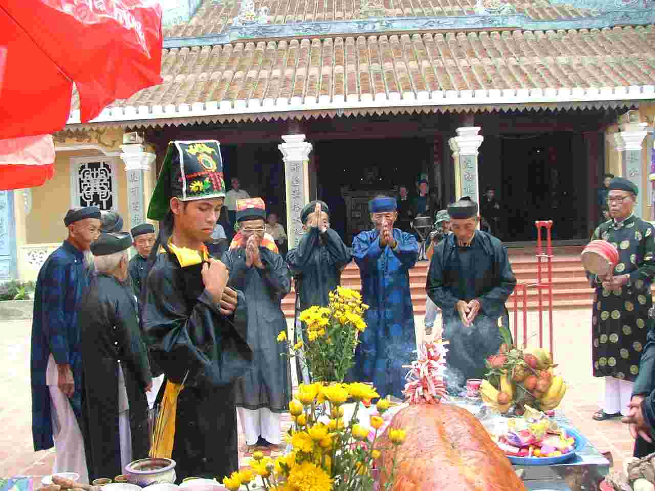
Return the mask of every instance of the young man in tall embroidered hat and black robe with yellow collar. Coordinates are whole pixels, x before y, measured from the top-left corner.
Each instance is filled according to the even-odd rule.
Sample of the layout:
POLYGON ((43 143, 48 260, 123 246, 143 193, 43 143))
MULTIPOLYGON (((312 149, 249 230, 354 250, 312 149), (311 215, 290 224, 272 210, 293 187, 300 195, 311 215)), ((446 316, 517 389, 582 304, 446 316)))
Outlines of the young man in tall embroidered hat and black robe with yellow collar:
POLYGON ((223 206, 222 171, 217 141, 170 143, 148 209, 160 221, 142 312, 146 344, 166 375, 157 427, 176 411, 174 427, 155 431, 151 453, 177 462, 178 481, 220 481, 238 470, 233 383, 253 356, 246 300, 204 246, 223 206))

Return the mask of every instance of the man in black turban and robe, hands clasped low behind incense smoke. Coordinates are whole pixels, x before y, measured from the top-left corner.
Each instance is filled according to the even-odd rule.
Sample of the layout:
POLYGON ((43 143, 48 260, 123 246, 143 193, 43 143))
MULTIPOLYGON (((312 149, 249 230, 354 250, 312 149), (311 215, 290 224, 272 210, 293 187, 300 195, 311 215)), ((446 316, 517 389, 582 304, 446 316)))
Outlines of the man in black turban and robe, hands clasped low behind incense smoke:
POLYGON ((442 311, 443 338, 450 342, 446 382, 458 392, 468 378, 483 378, 485 359, 498 352, 498 319, 508 326, 505 302, 516 278, 500 240, 476 230, 476 202, 459 200, 448 214, 453 233, 434 247, 426 290, 442 311))

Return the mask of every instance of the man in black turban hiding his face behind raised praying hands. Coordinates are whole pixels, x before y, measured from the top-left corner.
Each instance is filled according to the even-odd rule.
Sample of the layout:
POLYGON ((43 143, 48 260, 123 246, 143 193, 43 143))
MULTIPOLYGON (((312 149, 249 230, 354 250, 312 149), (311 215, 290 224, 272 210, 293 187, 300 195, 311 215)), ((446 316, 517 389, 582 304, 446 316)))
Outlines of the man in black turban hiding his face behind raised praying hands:
MULTIPOLYGON (((300 218, 305 234, 286 258, 295 280, 296 318, 300 310, 329 304, 329 292, 341 285, 341 271, 352 259, 339 234, 329 228, 329 209, 324 202, 310 202, 300 218)), ((301 340, 297 321, 295 326, 296 336, 301 340)), ((299 357, 296 360, 298 380, 309 382, 309 374, 303 373, 303 362, 299 357)))

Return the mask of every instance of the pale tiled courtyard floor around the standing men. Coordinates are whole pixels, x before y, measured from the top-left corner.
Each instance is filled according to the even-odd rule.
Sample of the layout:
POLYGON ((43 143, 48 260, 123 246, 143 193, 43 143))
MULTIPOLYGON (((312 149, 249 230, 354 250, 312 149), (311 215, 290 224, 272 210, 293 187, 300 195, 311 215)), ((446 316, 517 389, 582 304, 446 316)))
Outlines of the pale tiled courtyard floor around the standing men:
MULTIPOLYGON (((603 380, 591 376, 589 309, 560 310, 553 314, 555 362, 569 383, 561 409, 601 452, 609 451, 614 465, 631 455, 627 427, 618 420, 595 422, 591 414, 603 396, 603 380)), ((545 319, 545 316, 544 316, 545 319)), ((422 317, 417 317, 422 327, 422 317)), ((546 322, 546 320, 544 320, 546 322)), ((519 318, 522 324, 522 319, 519 318)), ((536 314, 529 314, 529 336, 536 332, 536 314)), ((52 450, 33 452, 29 389, 30 321, 0 322, 0 476, 45 475, 54 462, 52 450)), ((530 344, 536 337, 530 338, 530 344)), ((546 342, 548 337, 545 338, 546 342)), ((285 418, 288 421, 288 418, 285 418)), ((288 422, 286 423, 288 424, 288 422)), ((286 424, 284 426, 286 426, 286 424)), ((241 436, 241 435, 240 435, 241 436)), ((240 439, 242 441, 242 439, 240 439)), ((240 445, 242 463, 245 444, 240 445)))

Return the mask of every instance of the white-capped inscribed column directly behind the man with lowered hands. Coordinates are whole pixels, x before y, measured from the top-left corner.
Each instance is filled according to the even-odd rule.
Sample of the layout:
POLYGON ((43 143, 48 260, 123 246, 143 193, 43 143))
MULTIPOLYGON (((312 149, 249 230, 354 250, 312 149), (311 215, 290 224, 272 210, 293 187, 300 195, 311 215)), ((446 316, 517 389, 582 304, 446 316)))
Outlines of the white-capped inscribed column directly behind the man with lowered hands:
POLYGON ((453 158, 455 158, 455 198, 470 196, 476 203, 480 202, 477 184, 477 149, 484 137, 477 133, 479 126, 457 128, 457 136, 449 139, 453 158))

